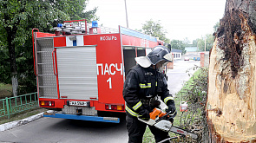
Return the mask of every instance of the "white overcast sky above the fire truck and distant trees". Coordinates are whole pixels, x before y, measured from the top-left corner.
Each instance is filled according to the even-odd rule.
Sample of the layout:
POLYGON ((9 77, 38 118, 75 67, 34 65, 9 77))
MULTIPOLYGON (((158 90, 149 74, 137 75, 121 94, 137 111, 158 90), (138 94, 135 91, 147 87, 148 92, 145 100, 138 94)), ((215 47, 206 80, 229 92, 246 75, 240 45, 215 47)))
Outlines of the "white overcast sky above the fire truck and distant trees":
MULTIPOLYGON (((125 0, 89 0, 87 10, 98 7, 96 16, 104 27, 127 27, 125 0)), ((213 26, 223 17, 226 0, 126 0, 128 28, 142 29, 152 19, 161 21, 167 38, 183 40, 213 33, 213 26)))

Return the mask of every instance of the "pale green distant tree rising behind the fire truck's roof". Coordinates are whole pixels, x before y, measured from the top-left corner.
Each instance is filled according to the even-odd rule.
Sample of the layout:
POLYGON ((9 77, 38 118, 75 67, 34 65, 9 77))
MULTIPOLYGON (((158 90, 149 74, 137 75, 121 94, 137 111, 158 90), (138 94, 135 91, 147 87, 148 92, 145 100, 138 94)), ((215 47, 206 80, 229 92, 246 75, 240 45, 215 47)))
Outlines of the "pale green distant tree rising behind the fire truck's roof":
POLYGON ((149 35, 149 36, 154 36, 158 37, 160 40, 169 43, 170 39, 166 37, 167 30, 163 29, 161 26, 160 20, 154 22, 152 19, 149 21, 146 21, 145 24, 142 26, 142 31, 143 33, 149 35))

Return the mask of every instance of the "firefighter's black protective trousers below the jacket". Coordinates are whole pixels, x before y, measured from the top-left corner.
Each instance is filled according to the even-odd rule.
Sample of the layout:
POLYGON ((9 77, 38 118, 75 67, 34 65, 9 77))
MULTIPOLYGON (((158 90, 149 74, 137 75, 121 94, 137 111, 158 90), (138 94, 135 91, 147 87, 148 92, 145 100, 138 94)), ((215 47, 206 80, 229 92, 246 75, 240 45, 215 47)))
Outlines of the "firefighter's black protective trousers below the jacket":
MULTIPOLYGON (((141 122, 135 116, 127 114, 127 129, 128 129, 128 143, 142 143, 143 134, 145 133, 147 124, 141 122)), ((168 138, 168 133, 161 131, 160 129, 148 126, 151 133, 154 134, 154 139, 156 142, 165 140, 168 138)), ((167 141, 168 142, 168 141, 167 141)))

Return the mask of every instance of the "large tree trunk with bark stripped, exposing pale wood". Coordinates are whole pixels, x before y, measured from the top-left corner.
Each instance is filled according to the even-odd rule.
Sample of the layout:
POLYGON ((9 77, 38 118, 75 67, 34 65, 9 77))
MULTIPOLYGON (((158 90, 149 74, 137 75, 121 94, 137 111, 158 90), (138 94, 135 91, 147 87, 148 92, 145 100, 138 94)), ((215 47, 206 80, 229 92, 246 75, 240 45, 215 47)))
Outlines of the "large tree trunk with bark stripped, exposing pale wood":
POLYGON ((226 0, 210 55, 211 142, 256 142, 256 0, 226 0))

